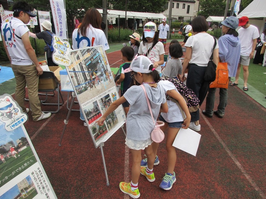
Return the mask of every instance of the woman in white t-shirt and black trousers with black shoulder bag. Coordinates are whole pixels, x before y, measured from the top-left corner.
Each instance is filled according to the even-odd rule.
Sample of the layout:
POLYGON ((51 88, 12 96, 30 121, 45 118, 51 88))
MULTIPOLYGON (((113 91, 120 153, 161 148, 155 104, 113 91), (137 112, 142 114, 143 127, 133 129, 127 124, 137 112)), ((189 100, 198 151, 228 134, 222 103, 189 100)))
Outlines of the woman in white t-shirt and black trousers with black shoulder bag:
MULTIPOLYGON (((209 25, 203 16, 197 16, 192 21, 193 36, 189 37, 185 47, 186 55, 183 62, 181 79, 184 78, 186 68, 189 66, 189 72, 186 80, 186 86, 193 90, 199 98, 199 106, 203 103, 209 89, 210 82, 204 80, 207 64, 213 53, 213 62, 218 64, 219 53, 218 44, 214 47, 213 37, 206 33, 209 25)), ((190 113, 191 121, 189 128, 200 131, 199 110, 190 113)))

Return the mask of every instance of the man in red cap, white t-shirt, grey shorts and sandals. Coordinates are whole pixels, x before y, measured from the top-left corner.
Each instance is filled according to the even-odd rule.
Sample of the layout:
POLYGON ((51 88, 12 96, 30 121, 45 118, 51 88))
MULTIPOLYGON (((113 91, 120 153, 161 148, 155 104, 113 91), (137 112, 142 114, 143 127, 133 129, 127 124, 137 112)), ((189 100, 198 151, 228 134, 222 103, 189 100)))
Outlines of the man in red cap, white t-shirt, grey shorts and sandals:
POLYGON ((241 28, 237 31, 238 37, 241 43, 240 49, 240 60, 237 67, 236 80, 233 83, 230 83, 230 86, 238 85, 238 78, 240 74, 241 65, 243 66, 243 76, 244 76, 244 91, 248 91, 247 87, 247 78, 248 78, 248 65, 250 59, 254 55, 254 50, 257 43, 257 38, 259 37, 259 31, 257 27, 248 23, 248 17, 243 16, 239 19, 239 26, 241 28))

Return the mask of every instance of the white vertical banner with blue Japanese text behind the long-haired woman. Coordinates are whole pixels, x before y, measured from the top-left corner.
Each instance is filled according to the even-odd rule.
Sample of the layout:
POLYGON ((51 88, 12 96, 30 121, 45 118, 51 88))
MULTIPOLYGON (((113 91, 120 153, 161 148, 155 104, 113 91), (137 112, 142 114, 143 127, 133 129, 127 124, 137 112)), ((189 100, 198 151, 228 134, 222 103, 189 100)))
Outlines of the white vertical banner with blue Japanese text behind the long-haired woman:
POLYGON ((60 39, 67 39, 67 14, 64 0, 50 0, 53 23, 55 26, 55 34, 60 39))

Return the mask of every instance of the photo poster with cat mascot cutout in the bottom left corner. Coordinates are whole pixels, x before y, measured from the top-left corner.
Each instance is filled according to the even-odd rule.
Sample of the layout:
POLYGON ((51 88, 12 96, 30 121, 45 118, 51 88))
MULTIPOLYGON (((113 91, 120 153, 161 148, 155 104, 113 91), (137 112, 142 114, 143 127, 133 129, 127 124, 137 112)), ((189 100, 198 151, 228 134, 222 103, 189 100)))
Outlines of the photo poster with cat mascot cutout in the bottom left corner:
POLYGON ((14 99, 0 96, 0 199, 57 199, 14 99))

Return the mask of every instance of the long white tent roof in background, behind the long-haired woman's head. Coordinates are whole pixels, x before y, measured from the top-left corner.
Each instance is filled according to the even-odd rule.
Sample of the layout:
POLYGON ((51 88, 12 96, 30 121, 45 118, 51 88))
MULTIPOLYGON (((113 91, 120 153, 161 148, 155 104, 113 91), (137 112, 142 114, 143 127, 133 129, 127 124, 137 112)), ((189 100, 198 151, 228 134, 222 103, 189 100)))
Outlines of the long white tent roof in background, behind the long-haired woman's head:
MULTIPOLYGON (((103 14, 102 9, 97 9, 101 14, 103 14)), ((121 18, 124 18, 126 16, 125 11, 121 10, 107 10, 108 17, 112 18, 118 18, 119 16, 121 18)), ((136 18, 136 19, 162 19, 166 18, 163 14, 156 14, 156 13, 148 13, 148 12, 131 12, 127 11, 127 18, 136 18)))

